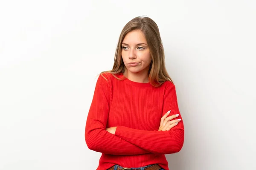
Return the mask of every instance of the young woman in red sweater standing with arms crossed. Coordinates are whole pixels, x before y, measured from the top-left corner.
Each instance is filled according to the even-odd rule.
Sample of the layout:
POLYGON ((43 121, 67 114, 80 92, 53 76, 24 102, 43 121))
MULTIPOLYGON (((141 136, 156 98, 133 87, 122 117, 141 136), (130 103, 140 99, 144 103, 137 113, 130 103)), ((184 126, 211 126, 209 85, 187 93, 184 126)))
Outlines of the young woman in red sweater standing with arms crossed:
POLYGON ((97 170, 169 170, 165 154, 181 150, 175 85, 151 18, 135 17, 122 29, 113 69, 96 82, 85 141, 102 153, 97 170))

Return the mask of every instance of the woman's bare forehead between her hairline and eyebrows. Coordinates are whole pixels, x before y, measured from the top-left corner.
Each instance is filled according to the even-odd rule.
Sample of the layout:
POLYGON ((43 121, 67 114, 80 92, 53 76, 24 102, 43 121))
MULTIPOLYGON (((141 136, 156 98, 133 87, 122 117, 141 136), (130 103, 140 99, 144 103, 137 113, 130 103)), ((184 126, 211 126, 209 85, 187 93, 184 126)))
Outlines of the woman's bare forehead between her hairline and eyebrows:
POLYGON ((122 42, 126 44, 147 43, 143 32, 140 30, 134 30, 127 33, 122 42))

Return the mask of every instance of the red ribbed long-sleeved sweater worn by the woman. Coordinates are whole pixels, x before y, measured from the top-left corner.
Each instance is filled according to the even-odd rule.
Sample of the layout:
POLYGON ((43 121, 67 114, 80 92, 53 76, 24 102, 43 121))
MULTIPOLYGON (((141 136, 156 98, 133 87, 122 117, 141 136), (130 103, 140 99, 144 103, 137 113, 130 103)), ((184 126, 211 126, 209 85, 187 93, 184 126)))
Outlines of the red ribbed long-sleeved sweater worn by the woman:
POLYGON ((168 131, 158 128, 167 111, 171 110, 169 116, 180 114, 175 85, 166 81, 156 88, 127 78, 118 80, 109 73, 104 77, 108 81, 100 75, 96 82, 85 127, 88 148, 102 153, 97 170, 115 164, 122 167, 159 164, 169 170, 164 154, 181 150, 183 121, 168 131), (116 126, 114 135, 106 131, 113 126, 116 126))

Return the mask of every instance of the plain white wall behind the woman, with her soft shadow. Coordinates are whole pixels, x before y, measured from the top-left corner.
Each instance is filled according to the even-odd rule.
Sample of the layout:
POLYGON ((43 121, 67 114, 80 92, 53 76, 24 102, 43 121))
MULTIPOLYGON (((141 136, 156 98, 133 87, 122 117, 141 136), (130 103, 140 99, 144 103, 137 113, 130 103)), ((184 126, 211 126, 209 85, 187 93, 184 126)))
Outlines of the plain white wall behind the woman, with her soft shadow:
POLYGON ((171 170, 256 169, 253 0, 0 2, 0 170, 93 170, 96 75, 134 17, 159 26, 185 142, 171 170))

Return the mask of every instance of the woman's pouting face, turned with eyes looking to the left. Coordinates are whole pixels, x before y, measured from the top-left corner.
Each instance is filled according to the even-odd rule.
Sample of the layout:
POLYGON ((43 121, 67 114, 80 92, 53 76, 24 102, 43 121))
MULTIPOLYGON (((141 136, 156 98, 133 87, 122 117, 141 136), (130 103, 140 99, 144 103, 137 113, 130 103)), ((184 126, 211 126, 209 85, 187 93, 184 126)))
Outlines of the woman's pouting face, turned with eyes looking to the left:
POLYGON ((125 35, 121 55, 128 72, 148 73, 152 59, 143 32, 134 30, 125 35))

